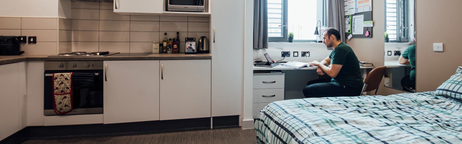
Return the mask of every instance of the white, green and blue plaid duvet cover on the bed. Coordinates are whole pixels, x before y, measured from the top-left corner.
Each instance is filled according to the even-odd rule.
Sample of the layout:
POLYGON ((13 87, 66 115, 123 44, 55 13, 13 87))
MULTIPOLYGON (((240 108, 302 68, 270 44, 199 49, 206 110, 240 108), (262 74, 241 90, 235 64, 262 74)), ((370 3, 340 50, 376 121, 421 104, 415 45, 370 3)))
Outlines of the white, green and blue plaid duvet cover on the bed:
POLYGON ((462 144, 462 102, 434 92, 270 103, 259 144, 462 144))

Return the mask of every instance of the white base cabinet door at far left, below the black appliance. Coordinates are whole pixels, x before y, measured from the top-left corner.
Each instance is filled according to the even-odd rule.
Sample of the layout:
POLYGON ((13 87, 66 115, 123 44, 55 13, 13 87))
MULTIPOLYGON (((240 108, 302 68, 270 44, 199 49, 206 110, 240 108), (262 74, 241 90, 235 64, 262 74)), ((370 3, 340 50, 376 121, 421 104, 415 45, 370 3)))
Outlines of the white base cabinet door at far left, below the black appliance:
POLYGON ((19 131, 18 63, 0 66, 0 140, 19 131))

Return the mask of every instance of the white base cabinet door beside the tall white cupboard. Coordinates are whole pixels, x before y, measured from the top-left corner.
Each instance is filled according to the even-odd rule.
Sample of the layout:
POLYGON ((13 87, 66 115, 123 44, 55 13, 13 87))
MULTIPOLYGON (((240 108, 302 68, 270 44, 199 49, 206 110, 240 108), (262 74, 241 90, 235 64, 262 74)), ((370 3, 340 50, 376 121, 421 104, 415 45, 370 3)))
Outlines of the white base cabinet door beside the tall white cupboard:
POLYGON ((160 66, 160 120, 210 117, 211 60, 161 60, 160 66))

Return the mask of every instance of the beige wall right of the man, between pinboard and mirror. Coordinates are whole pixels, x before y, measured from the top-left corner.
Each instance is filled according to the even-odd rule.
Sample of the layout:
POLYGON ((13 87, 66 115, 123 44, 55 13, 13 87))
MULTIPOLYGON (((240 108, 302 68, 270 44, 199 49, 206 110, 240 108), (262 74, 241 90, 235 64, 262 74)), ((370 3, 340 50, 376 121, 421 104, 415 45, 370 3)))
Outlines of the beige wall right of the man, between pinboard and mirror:
MULTIPOLYGON (((346 44, 353 48, 354 53, 361 61, 367 61, 374 64, 374 67, 383 66, 385 47, 383 32, 385 31, 385 1, 374 0, 372 2, 372 19, 374 20, 374 28, 372 38, 352 38, 346 40, 346 44)), ((399 90, 390 89, 383 86, 383 80, 378 89, 377 95, 391 95, 403 93, 399 90)), ((374 93, 369 93, 373 95, 374 93)))

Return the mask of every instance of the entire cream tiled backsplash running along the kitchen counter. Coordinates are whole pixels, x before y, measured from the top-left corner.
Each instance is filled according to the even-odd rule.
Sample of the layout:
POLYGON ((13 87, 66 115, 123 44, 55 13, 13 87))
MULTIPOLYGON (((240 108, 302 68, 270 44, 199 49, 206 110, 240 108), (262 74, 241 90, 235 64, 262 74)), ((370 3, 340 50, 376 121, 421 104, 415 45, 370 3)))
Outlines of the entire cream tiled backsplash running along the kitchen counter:
MULTIPOLYGON (((24 54, 58 54, 75 51, 151 53, 152 42, 180 32, 186 37, 210 37, 208 17, 120 15, 113 3, 72 1, 72 19, 0 18, 0 36, 37 36, 24 44, 24 54)), ((184 52, 184 48, 180 48, 184 52)))

